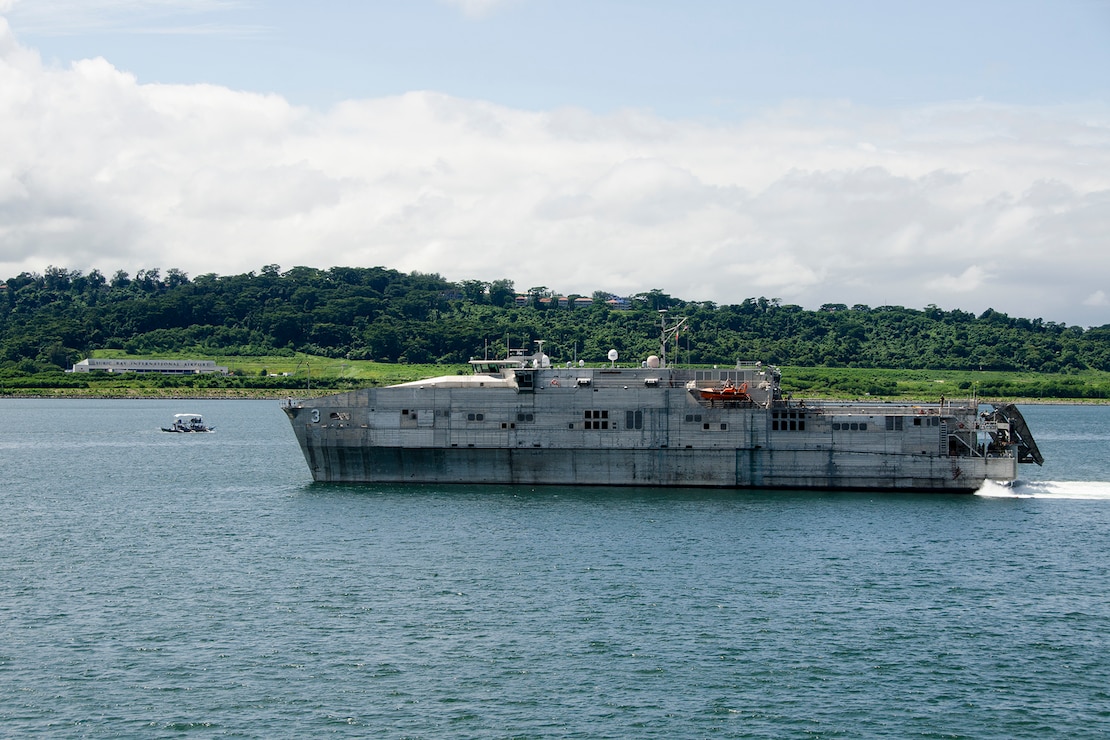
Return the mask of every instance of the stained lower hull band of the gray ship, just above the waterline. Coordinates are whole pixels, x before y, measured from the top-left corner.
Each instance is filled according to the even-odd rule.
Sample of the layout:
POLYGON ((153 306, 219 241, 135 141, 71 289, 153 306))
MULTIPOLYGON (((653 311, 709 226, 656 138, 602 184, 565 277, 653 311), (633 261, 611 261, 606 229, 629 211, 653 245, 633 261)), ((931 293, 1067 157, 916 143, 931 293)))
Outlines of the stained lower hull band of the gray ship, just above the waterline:
POLYGON ((442 449, 310 443, 321 483, 645 486, 973 493, 1013 460, 891 459, 816 450, 442 449), (992 463, 992 464, 988 464, 992 463))

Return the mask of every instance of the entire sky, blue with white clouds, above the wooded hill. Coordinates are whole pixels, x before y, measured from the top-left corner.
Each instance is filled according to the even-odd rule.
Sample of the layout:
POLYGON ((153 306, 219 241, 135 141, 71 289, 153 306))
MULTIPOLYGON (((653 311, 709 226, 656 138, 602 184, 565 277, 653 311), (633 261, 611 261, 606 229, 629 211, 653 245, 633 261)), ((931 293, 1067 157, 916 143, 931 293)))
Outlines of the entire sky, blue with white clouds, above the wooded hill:
POLYGON ((0 280, 1110 324, 1110 0, 0 0, 0 280))

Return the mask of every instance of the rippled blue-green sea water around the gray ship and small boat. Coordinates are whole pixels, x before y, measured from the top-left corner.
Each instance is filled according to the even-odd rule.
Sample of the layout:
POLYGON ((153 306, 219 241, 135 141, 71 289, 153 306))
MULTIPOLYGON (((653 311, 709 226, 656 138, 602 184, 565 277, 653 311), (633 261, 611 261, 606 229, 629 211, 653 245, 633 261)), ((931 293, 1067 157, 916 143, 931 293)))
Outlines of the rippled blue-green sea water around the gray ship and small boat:
POLYGON ((319 486, 274 402, 0 401, 0 736, 1108 737, 1110 408, 1025 412, 1023 485, 891 496, 319 486))

